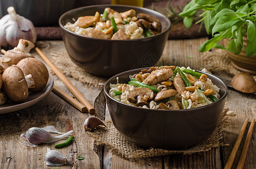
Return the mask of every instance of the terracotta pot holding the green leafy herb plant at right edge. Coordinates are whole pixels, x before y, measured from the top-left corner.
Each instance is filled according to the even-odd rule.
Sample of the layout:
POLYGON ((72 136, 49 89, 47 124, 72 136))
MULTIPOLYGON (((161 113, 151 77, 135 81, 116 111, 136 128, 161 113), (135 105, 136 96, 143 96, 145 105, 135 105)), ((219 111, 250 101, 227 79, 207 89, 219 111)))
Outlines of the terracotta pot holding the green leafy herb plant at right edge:
MULTIPOLYGON (((230 39, 224 39, 224 46, 227 47, 230 39)), ((243 37, 244 47, 247 44, 247 38, 243 37)), ((227 51, 228 57, 231 60, 232 65, 241 71, 256 74, 256 55, 246 56, 246 52, 242 49, 239 55, 233 54, 233 52, 227 51)))

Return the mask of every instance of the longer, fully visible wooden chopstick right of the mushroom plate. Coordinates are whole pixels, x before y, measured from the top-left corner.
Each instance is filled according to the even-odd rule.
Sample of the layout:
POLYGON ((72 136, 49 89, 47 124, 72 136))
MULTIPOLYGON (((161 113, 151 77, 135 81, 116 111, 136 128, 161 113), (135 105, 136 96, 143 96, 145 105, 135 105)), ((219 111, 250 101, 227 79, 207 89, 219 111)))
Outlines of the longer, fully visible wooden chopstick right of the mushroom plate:
POLYGON ((53 72, 59 77, 59 79, 67 86, 67 88, 72 92, 72 94, 79 100, 82 104, 84 104, 90 114, 95 113, 95 109, 93 106, 85 99, 85 97, 76 89, 75 86, 65 77, 65 75, 59 71, 59 69, 48 59, 48 57, 38 48, 35 47, 37 53, 42 57, 47 65, 53 70, 53 72))

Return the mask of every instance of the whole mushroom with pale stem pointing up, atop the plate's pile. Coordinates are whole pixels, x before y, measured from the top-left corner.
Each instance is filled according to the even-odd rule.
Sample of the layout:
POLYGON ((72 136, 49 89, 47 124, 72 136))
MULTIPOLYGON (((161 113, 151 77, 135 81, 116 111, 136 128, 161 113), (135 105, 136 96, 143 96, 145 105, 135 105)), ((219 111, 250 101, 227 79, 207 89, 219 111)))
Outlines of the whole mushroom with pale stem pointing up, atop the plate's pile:
POLYGON ((34 47, 34 44, 25 39, 19 39, 18 46, 12 50, 6 51, 5 57, 11 58, 11 64, 16 65, 21 59, 34 57, 29 51, 34 47))

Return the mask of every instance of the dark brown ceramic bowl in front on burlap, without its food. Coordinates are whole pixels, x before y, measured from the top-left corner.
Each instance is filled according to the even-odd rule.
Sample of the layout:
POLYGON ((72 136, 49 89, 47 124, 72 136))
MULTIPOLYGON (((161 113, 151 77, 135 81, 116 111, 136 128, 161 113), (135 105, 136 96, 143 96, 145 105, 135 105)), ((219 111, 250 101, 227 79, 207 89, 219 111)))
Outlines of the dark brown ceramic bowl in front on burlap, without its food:
POLYGON ((144 148, 176 150, 197 145, 216 130, 228 94, 228 87, 222 80, 205 73, 220 88, 220 99, 209 105, 186 110, 138 108, 121 103, 109 95, 110 83, 116 83, 116 77, 119 77, 119 83, 127 83, 129 75, 140 70, 117 74, 104 87, 112 122, 120 134, 144 148))

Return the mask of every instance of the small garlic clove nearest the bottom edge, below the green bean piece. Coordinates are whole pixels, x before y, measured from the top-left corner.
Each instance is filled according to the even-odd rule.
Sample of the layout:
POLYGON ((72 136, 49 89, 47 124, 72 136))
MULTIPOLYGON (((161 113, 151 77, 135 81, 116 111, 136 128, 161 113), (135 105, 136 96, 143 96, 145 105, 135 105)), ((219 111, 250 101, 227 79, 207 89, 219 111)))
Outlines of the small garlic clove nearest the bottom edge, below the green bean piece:
POLYGON ((68 162, 68 158, 65 155, 57 150, 50 150, 49 148, 47 148, 44 158, 47 166, 63 166, 68 162))

